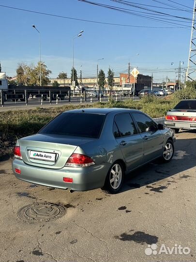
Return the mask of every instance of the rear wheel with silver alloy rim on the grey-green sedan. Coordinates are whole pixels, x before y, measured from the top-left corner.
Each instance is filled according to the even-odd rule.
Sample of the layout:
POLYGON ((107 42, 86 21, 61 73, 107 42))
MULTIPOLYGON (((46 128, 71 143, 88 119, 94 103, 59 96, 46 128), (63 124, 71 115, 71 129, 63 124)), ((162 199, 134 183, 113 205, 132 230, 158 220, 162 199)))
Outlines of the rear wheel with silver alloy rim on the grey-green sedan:
POLYGON ((102 188, 107 194, 117 194, 121 190, 124 179, 124 169, 121 162, 113 163, 107 173, 105 185, 102 188), (112 172, 113 170, 113 172, 112 172), (116 170, 116 172, 115 172, 116 170), (118 174, 116 174, 118 172, 118 174), (112 176, 112 177, 111 177, 112 176), (113 180, 114 179, 114 180, 113 180), (113 180, 113 181, 111 181, 113 180), (116 185, 116 186, 115 186, 116 185))

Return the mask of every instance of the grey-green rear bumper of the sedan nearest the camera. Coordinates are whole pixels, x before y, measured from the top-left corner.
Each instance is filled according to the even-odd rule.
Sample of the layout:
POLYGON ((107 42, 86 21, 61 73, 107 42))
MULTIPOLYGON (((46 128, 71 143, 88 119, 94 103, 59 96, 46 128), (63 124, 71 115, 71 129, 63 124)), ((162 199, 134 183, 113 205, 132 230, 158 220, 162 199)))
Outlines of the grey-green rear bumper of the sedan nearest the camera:
POLYGON ((28 165, 19 159, 14 159, 12 162, 12 170, 17 179, 43 186, 70 188, 75 191, 87 191, 103 187, 109 168, 109 163, 83 168, 49 169, 28 165), (21 170, 21 174, 17 174, 15 168, 21 170), (63 182, 63 177, 73 178, 73 183, 63 182))

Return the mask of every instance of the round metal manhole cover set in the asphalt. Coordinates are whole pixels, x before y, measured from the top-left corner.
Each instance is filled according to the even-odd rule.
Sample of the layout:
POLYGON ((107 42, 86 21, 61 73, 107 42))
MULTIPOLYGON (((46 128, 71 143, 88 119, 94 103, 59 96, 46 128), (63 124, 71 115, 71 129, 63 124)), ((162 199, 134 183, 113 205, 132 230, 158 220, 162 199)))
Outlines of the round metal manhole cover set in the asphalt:
POLYGON ((18 217, 28 222, 47 222, 60 218, 66 213, 66 209, 60 204, 33 203, 18 211, 18 217))

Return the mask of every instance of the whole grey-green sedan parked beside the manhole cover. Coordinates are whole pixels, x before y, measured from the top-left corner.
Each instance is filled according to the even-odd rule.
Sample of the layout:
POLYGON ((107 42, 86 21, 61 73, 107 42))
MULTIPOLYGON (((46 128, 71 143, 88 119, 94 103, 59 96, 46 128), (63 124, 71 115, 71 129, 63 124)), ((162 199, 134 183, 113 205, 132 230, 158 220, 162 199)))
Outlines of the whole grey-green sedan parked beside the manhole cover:
POLYGON ((174 142, 172 130, 138 110, 70 110, 18 139, 12 168, 16 178, 30 183, 115 194, 130 171, 156 158, 169 162, 174 142))

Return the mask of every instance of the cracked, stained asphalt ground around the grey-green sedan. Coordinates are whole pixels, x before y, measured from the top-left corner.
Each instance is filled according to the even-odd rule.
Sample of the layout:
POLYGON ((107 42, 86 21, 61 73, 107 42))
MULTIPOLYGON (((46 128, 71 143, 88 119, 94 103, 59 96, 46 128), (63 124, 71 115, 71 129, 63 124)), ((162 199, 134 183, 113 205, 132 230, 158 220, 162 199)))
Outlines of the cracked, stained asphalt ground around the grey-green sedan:
POLYGON ((196 261, 196 131, 179 133, 175 147, 169 164, 137 170, 118 195, 31 185, 15 179, 11 160, 1 162, 0 262, 196 261), (44 201, 67 213, 45 223, 17 217, 21 207, 44 201), (164 244, 165 253, 146 255, 152 244, 154 251, 164 244), (178 245, 190 253, 175 254, 178 245))

